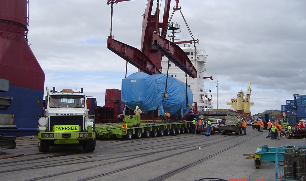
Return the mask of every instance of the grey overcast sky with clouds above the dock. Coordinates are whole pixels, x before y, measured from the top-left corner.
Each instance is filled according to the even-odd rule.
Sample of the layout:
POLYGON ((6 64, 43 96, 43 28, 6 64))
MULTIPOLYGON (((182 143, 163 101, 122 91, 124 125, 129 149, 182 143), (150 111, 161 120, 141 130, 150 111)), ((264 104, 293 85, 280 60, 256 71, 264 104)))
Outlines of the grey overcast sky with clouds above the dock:
MULTIPOLYGON (((106 0, 29 0, 31 49, 45 72, 45 86, 73 88, 104 105, 105 89, 121 89, 126 61, 106 48, 111 13, 106 0)), ((140 49, 146 0, 114 5, 113 35, 140 49)), ((164 1, 162 1, 164 2, 164 1)), ((156 3, 154 3, 155 6, 156 3)), ((281 110, 293 94, 306 95, 305 0, 180 0, 181 11, 207 64, 205 89, 219 109, 247 90, 250 110, 281 110)), ((171 7, 175 1, 171 1, 171 7)), ((163 8, 162 8, 163 9, 163 8)), ((172 9, 170 10, 172 13, 172 9)), ((191 39, 179 12, 180 39, 191 39)), ((137 69, 128 65, 128 75, 137 69)))

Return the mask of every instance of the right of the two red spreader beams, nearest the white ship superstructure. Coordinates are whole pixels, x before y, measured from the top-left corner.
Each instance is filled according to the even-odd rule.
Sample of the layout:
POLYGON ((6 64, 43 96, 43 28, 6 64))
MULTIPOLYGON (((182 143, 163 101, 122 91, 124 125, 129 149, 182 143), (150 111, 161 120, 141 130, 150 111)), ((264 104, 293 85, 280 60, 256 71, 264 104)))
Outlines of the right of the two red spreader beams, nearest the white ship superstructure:
POLYGON ((175 43, 170 42, 164 37, 161 37, 158 32, 152 35, 153 46, 155 46, 162 54, 170 59, 177 67, 186 72, 192 78, 197 78, 197 71, 189 60, 186 53, 175 43))

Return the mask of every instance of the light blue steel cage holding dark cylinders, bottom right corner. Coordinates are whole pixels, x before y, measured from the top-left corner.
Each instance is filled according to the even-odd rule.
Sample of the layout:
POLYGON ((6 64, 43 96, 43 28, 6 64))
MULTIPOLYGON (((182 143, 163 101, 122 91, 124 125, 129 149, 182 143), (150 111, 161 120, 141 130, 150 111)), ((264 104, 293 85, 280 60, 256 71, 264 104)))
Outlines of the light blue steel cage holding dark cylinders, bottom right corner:
POLYGON ((286 145, 276 148, 275 181, 306 180, 306 146, 286 145), (283 154, 284 164, 280 155, 283 154))

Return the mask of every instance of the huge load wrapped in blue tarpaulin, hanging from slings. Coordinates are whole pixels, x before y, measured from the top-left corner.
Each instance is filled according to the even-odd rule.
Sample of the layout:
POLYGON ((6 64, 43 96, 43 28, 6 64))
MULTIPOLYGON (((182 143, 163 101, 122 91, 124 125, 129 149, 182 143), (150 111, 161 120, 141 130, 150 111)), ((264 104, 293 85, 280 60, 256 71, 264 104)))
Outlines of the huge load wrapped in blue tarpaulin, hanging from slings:
MULTIPOLYGON (((158 115, 169 112, 171 117, 183 117, 191 106, 187 107, 186 84, 178 79, 168 76, 167 97, 163 97, 166 86, 165 74, 148 75, 136 72, 122 79, 121 101, 130 109, 136 106, 144 112, 157 110, 158 115)), ((193 95, 187 86, 188 104, 192 105, 193 95)))

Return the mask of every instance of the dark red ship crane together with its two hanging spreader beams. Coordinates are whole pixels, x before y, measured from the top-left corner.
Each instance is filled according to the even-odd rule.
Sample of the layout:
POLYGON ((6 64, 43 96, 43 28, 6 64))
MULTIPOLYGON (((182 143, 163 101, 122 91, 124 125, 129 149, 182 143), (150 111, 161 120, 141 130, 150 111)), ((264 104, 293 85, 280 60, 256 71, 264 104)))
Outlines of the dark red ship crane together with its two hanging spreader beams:
MULTIPOLYGON (((108 0, 107 4, 111 4, 111 13, 113 12, 114 3, 123 1, 130 0, 108 0)), ((157 0, 157 6, 153 14, 153 0, 148 0, 142 21, 141 50, 115 40, 112 35, 112 25, 111 34, 107 39, 107 48, 127 62, 136 66, 140 71, 149 75, 161 74, 161 54, 163 54, 187 75, 192 78, 197 78, 195 66, 186 53, 174 42, 170 42, 165 38, 168 27, 170 2, 171 0, 165 0, 163 21, 160 22, 159 0, 157 0), (161 33, 159 31, 160 29, 161 33), (162 36, 160 36, 160 34, 162 36)), ((180 8, 178 8, 178 2, 179 0, 176 0, 176 9, 180 10, 180 8)), ((198 43, 198 40, 196 41, 198 43)), ((195 43, 196 41, 193 40, 190 42, 195 43)))

